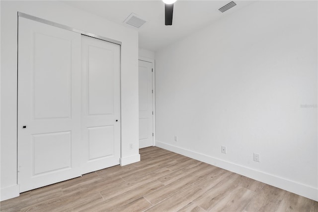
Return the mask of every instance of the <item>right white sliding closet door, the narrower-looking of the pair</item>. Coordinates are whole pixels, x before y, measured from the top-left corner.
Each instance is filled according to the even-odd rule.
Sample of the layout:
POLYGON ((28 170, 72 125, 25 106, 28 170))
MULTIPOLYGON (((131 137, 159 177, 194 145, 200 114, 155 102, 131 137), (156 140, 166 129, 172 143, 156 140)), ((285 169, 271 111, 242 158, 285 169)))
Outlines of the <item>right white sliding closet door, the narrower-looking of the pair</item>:
POLYGON ((120 46, 82 35, 82 173, 120 163, 120 46))

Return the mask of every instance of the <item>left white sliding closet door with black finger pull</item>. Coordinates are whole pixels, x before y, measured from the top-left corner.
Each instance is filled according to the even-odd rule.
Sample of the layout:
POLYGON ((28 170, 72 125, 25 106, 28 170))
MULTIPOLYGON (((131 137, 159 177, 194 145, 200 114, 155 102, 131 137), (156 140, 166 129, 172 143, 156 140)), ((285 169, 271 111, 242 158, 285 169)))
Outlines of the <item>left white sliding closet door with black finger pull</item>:
POLYGON ((80 175, 80 34, 19 17, 20 192, 80 175))

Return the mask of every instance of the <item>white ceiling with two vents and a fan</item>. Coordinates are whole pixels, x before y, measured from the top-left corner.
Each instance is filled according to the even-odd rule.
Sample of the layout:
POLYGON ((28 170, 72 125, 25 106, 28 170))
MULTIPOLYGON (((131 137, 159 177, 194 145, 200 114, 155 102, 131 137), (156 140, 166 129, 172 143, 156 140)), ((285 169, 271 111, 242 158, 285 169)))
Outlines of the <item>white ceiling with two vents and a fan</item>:
POLYGON ((136 29, 139 31, 139 47, 157 51, 254 1, 235 0, 237 5, 222 13, 218 9, 231 0, 177 0, 173 8, 172 26, 164 25, 164 3, 161 0, 68 0, 63 2, 126 27, 131 27, 123 22, 132 12, 141 16, 147 22, 136 29))

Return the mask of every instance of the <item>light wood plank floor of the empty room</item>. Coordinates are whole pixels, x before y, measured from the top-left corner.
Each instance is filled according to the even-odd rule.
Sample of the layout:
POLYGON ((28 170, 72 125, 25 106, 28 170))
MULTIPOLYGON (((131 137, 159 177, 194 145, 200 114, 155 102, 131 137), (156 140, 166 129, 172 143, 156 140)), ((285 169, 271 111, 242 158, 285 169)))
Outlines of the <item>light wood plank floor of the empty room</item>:
POLYGON ((158 147, 140 154, 138 163, 22 193, 1 211, 318 212, 318 202, 158 147))

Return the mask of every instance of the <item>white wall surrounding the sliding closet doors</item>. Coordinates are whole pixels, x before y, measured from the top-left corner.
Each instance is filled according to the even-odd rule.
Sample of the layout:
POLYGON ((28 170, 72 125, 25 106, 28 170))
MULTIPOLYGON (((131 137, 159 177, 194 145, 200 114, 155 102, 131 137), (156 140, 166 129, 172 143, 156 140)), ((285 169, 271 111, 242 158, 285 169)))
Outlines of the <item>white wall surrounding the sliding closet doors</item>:
POLYGON ((18 196, 16 87, 17 11, 122 42, 121 164, 140 160, 138 148, 138 32, 58 1, 1 3, 1 200, 18 196))

